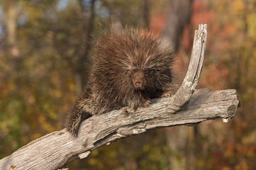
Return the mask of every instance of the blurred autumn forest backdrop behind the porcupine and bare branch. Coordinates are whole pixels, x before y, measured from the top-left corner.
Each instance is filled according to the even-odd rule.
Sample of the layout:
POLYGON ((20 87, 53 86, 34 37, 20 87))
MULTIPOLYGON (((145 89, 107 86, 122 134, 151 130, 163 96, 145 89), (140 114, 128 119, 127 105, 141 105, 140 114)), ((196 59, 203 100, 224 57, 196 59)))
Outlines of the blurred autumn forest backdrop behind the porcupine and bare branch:
POLYGON ((111 22, 164 35, 186 72, 194 30, 208 24, 199 89, 237 89, 233 120, 151 130, 96 149, 69 169, 255 169, 255 0, 1 0, 0 159, 62 130, 111 22))

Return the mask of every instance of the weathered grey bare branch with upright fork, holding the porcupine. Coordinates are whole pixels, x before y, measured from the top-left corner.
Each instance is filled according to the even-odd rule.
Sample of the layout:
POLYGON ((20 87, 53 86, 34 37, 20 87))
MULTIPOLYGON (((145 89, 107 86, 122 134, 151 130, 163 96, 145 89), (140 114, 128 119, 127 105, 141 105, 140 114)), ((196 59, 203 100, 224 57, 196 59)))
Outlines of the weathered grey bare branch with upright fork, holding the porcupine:
POLYGON ((173 97, 155 98, 150 106, 137 111, 123 108, 94 115, 82 123, 78 137, 71 137, 66 129, 52 132, 1 159, 0 169, 59 169, 73 159, 87 157, 94 149, 123 137, 155 128, 233 118, 240 104, 234 89, 195 90, 204 60, 205 42, 206 26, 199 26, 189 65, 191 73, 173 97))

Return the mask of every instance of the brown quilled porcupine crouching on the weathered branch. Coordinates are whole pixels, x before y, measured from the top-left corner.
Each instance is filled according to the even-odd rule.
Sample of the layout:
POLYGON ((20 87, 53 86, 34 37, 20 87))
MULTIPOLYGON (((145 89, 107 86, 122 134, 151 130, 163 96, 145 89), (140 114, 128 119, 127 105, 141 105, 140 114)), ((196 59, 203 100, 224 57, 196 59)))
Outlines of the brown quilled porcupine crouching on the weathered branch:
POLYGON ((67 130, 77 136, 83 120, 128 106, 148 106, 174 88, 173 48, 159 35, 112 29, 96 44, 89 82, 69 109, 67 130))

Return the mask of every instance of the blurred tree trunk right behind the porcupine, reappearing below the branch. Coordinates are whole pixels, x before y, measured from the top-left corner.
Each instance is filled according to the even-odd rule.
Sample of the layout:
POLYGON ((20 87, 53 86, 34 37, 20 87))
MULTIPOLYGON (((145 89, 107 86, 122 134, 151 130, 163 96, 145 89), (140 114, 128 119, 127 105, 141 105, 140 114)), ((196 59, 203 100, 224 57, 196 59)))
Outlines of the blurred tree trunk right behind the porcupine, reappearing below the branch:
MULTIPOLYGON (((169 40, 177 52, 184 27, 190 22, 191 4, 192 0, 173 0, 165 29, 162 32, 162 35, 169 40)), ((194 160, 194 127, 169 128, 166 132, 167 146, 171 152, 170 169, 194 169, 192 164, 194 160)))

